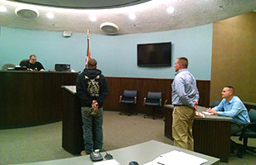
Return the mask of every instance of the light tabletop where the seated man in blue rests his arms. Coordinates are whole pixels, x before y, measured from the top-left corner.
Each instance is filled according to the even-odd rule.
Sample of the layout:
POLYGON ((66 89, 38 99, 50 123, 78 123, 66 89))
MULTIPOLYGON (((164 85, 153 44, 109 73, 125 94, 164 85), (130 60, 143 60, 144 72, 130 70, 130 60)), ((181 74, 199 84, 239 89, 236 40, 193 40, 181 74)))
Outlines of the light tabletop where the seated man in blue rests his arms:
MULTIPOLYGON (((169 108, 169 109, 173 109, 173 105, 165 105, 164 107, 169 108)), ((204 106, 197 106, 199 112, 203 112, 206 111, 207 108, 204 106)), ((204 114, 205 115, 205 114, 204 114)), ((200 116, 196 116, 195 120, 233 120, 231 117, 225 117, 225 116, 220 116, 220 115, 205 115, 205 117, 200 117, 200 116)))

